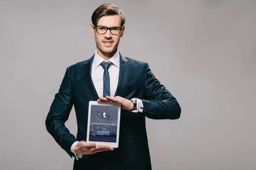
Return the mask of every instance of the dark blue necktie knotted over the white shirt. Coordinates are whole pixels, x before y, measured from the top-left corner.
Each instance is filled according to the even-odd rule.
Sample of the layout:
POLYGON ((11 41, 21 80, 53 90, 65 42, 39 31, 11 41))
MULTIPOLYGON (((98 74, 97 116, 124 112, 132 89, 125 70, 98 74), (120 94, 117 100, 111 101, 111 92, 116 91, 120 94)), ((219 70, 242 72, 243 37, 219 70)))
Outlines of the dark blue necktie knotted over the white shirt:
POLYGON ((112 62, 102 62, 100 64, 104 69, 103 74, 103 97, 110 96, 110 78, 108 68, 112 65, 112 62))

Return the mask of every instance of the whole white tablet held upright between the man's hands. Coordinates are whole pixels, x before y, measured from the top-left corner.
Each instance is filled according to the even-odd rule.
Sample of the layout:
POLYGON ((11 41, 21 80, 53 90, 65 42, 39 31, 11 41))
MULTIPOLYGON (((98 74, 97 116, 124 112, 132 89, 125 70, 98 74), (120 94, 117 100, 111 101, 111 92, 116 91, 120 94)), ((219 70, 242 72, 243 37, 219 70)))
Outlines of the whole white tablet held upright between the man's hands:
POLYGON ((119 103, 90 101, 86 142, 117 148, 120 112, 119 103))

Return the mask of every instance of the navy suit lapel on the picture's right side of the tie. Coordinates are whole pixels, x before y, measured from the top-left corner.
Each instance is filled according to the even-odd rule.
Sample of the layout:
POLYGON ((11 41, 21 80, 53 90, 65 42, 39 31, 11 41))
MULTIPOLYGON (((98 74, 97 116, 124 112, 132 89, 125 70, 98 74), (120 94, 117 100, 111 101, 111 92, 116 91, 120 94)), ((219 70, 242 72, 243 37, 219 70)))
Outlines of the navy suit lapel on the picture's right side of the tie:
POLYGON ((130 70, 130 65, 131 64, 129 63, 129 60, 120 54, 119 80, 118 80, 115 96, 120 96, 122 92, 122 89, 125 85, 125 82, 128 76, 128 72, 130 70))

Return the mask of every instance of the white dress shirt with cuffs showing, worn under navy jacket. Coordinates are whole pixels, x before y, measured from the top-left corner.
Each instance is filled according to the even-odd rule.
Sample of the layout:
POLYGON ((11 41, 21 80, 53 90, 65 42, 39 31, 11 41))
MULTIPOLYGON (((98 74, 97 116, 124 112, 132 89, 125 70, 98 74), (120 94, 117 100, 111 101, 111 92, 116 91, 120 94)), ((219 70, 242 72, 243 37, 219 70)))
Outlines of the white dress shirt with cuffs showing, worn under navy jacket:
MULTIPOLYGON (((119 80, 119 68, 120 68, 120 55, 117 51, 116 54, 111 57, 108 61, 105 61, 102 57, 97 54, 97 50, 94 54, 93 64, 91 68, 91 77, 93 81, 93 85, 96 89, 96 92, 99 97, 103 97, 103 73, 104 69, 100 65, 102 62, 112 62, 113 64, 108 68, 109 78, 110 78, 110 96, 114 97, 116 93, 116 88, 119 80)), ((137 99, 137 98, 136 98, 137 99)), ((143 103, 140 99, 137 99, 137 110, 132 112, 142 112, 143 103)), ((71 152, 73 152, 76 156, 76 159, 82 158, 82 155, 75 153, 75 147, 77 142, 74 142, 70 148, 71 152)))

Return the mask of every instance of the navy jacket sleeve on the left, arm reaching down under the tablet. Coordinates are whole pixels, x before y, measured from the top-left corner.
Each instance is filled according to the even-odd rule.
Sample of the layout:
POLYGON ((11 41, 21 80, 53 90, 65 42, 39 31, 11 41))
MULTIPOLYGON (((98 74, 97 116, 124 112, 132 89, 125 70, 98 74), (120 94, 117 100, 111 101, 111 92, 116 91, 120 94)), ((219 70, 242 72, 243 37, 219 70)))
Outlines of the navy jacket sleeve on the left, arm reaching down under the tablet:
POLYGON ((67 68, 59 91, 57 94, 55 94, 55 98, 47 115, 45 125, 47 131, 52 135, 61 148, 66 150, 70 157, 73 156, 70 148, 77 140, 64 124, 70 115, 72 107, 73 100, 71 94, 69 68, 67 68))

